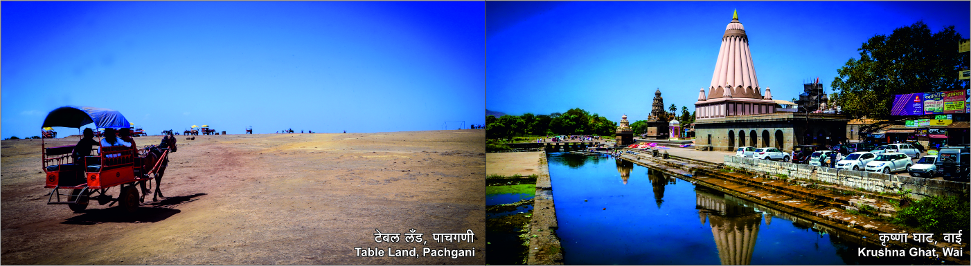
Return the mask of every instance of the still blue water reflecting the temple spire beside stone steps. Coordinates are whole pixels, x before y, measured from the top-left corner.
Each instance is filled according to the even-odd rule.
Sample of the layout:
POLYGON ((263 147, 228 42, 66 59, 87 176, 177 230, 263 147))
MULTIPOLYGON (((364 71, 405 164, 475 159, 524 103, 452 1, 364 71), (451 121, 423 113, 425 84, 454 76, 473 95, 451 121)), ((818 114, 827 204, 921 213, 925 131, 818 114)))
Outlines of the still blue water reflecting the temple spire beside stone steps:
POLYGON ((841 231, 628 161, 548 162, 565 264, 914 263, 857 257, 841 231))

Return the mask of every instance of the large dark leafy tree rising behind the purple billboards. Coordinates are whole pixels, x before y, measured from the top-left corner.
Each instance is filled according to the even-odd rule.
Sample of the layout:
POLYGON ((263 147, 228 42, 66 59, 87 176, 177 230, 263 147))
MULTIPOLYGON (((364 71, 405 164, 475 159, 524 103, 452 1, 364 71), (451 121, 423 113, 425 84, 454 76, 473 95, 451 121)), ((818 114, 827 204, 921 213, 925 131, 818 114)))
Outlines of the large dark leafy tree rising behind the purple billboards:
POLYGON ((837 70, 836 104, 853 118, 889 119, 893 95, 967 89, 954 77, 968 68, 968 54, 955 50, 961 39, 954 26, 931 34, 922 21, 870 38, 837 70))

